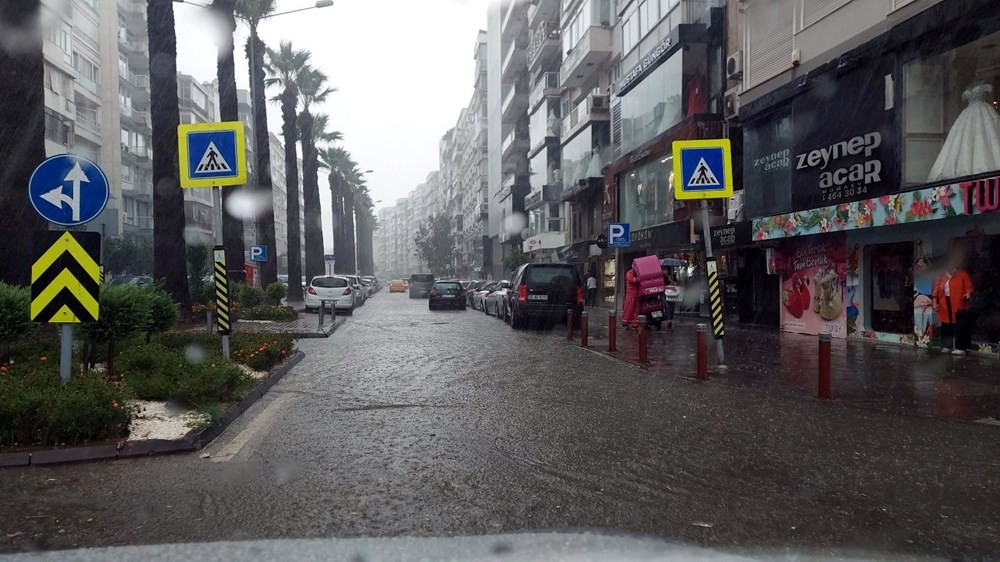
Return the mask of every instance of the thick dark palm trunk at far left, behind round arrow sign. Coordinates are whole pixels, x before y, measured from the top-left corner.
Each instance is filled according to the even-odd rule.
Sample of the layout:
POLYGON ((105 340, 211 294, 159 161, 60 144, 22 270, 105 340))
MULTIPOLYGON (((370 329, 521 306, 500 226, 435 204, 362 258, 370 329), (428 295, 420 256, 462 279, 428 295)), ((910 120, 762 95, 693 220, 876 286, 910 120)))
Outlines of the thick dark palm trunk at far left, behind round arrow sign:
MULTIPOLYGON (((0 281, 12 285, 31 282, 31 238, 48 224, 35 212, 25 194, 35 166, 45 160, 45 90, 42 37, 37 25, 39 0, 3 0, 3 33, 23 30, 25 48, 0 47, 0 240, 4 259, 0 281)), ((12 37, 13 38, 13 37, 12 37)))

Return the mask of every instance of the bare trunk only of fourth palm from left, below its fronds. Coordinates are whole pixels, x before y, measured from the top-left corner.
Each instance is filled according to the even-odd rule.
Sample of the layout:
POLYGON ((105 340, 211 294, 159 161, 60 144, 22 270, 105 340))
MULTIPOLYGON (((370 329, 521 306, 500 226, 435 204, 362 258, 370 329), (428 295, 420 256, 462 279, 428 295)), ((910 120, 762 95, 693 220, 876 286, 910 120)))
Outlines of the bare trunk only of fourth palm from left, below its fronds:
POLYGON ((257 36, 257 28, 250 27, 247 57, 250 61, 250 89, 253 92, 254 166, 257 192, 267 201, 257 215, 257 243, 267 246, 275 256, 260 266, 260 281, 266 287, 278 281, 277 244, 274 237, 274 193, 271 186, 271 141, 267 133, 267 99, 264 91, 264 52, 267 47, 257 36))

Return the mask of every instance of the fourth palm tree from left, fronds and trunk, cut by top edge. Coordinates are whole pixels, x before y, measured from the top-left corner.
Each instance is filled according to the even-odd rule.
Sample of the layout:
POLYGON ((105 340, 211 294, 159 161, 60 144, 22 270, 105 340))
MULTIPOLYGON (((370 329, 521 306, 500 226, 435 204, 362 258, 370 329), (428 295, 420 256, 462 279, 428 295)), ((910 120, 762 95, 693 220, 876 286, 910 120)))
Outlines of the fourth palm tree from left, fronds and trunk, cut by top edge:
MULTIPOLYGON (((274 195, 271 187, 271 143, 267 133, 267 106, 264 92, 264 42, 257 36, 261 20, 274 13, 275 0, 236 0, 236 16, 250 26, 246 55, 250 63, 251 105, 253 105, 254 169, 257 189, 266 195, 267 205, 257 217, 257 242, 277 254, 274 237, 274 195)), ((260 278, 264 285, 278 280, 278 260, 269 259, 261 265, 260 278)))

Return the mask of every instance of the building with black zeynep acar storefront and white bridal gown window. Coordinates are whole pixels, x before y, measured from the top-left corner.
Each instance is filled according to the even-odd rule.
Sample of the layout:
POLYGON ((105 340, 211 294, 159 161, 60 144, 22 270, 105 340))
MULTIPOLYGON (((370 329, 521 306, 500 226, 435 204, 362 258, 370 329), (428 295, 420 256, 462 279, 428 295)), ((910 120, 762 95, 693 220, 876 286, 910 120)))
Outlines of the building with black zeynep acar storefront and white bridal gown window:
POLYGON ((737 224, 747 226, 729 261, 775 280, 739 287, 741 320, 995 353, 1000 143, 986 139, 1000 138, 996 2, 741 8, 726 109, 742 126, 747 220, 737 224), (931 291, 953 269, 975 292, 942 322, 931 291), (822 298, 800 312, 782 299, 803 279, 822 298), (943 339, 949 327, 971 341, 943 339))

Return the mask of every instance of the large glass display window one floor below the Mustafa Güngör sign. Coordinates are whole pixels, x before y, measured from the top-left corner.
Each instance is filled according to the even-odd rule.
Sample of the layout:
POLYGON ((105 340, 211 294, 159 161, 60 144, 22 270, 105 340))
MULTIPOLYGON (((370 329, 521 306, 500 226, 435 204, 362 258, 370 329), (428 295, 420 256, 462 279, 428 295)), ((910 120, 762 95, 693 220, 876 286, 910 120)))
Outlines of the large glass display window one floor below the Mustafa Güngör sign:
POLYGON ((656 159, 618 180, 622 222, 632 230, 674 219, 673 158, 656 159))

